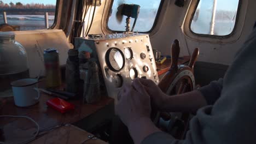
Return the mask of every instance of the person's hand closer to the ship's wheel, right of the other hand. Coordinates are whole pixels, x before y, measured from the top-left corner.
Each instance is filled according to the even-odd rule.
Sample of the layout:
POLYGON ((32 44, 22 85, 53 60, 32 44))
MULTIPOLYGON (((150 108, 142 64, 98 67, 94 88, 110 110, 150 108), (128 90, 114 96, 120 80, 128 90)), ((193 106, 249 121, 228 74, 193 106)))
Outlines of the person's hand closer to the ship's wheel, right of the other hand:
POLYGON ((164 104, 168 96, 162 92, 152 80, 139 79, 139 81, 149 94, 153 108, 156 110, 164 110, 164 104))

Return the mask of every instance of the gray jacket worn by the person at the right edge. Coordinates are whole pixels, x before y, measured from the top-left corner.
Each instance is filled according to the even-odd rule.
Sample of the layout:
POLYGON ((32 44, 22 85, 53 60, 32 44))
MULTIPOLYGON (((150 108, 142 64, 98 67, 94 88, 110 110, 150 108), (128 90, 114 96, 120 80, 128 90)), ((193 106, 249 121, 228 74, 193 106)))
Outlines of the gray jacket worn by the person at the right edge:
POLYGON ((200 91, 208 106, 190 121, 185 140, 164 132, 149 135, 146 143, 240 144, 256 142, 256 29, 237 53, 223 79, 200 91))

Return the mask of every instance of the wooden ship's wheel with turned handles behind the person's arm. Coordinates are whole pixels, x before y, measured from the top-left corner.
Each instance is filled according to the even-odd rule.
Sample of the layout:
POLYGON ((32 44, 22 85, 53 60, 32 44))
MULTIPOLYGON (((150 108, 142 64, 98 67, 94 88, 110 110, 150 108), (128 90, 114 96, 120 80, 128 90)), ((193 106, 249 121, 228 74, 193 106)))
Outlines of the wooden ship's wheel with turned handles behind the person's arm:
MULTIPOLYGON (((158 85, 161 90, 170 95, 170 97, 171 95, 182 94, 195 89, 194 64, 199 55, 199 49, 196 48, 194 50, 188 65, 178 65, 179 51, 179 41, 174 40, 171 47, 171 68, 167 71, 165 76, 162 77, 158 85)), ((176 139, 184 138, 188 128, 189 113, 153 111, 152 117, 154 123, 158 125, 160 129, 171 133, 176 139), (165 125, 165 128, 162 127, 162 125, 165 125)))

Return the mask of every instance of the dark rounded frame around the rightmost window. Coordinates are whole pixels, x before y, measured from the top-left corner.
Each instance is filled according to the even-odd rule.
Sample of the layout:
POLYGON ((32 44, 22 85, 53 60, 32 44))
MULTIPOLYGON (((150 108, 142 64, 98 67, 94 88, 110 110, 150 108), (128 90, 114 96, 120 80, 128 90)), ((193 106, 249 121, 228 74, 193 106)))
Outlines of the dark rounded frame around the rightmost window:
MULTIPOLYGON (((236 32, 236 28, 237 28, 237 24, 238 24, 238 19, 239 19, 239 15, 241 13, 241 5, 242 5, 242 1, 241 0, 238 0, 238 7, 237 7, 237 13, 236 13, 236 21, 235 21, 235 25, 234 25, 234 28, 232 30, 232 32, 228 35, 211 35, 211 34, 199 34, 199 33, 195 33, 192 31, 191 29, 191 25, 192 25, 192 21, 194 19, 194 16, 195 16, 195 13, 196 13, 196 10, 198 8, 198 5, 200 3, 200 1, 202 0, 198 0, 196 5, 195 5, 195 9, 193 10, 193 14, 192 16, 190 17, 190 20, 189 20, 189 31, 196 35, 196 36, 199 36, 199 37, 207 37, 207 38, 216 38, 216 39, 226 39, 226 38, 230 38, 232 37, 232 35, 235 34, 236 32)), ((207 0, 206 0, 207 1, 207 0)))

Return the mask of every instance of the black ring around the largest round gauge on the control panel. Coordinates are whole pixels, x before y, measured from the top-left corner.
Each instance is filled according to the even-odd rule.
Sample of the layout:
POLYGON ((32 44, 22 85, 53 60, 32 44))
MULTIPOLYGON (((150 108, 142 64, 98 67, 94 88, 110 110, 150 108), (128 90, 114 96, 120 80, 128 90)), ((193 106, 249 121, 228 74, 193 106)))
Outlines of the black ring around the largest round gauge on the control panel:
POLYGON ((114 72, 119 72, 120 70, 122 70, 125 66, 125 55, 123 53, 123 51, 121 51, 120 49, 118 49, 117 47, 111 47, 110 49, 108 49, 108 51, 106 52, 106 55, 105 55, 105 61, 106 61, 106 64, 107 66, 109 67, 110 70, 114 71, 114 72), (121 53, 121 56, 123 58, 123 66, 120 68, 120 69, 115 69, 113 68, 113 66, 111 65, 111 63, 109 62, 109 55, 110 55, 110 52, 112 50, 117 50, 121 53))

